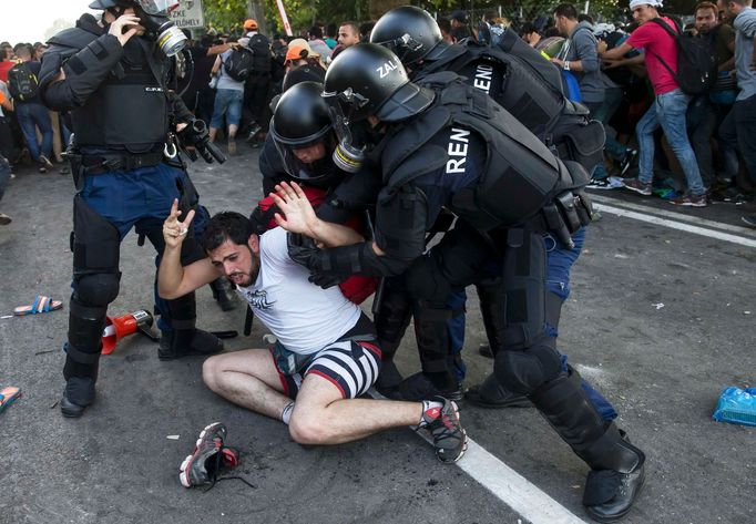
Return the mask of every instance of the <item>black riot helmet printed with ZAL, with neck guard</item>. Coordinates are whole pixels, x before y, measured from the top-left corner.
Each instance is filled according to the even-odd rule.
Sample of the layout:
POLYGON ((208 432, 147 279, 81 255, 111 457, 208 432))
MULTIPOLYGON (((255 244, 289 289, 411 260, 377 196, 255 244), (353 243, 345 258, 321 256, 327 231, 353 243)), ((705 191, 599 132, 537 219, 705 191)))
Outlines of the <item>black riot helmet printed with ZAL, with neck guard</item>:
MULTIPOLYGON (((426 110, 435 94, 409 81, 399 58, 374 43, 344 50, 326 72, 323 96, 347 123, 375 115, 399 122, 426 110)), ((337 125, 338 132, 338 125, 337 125)))

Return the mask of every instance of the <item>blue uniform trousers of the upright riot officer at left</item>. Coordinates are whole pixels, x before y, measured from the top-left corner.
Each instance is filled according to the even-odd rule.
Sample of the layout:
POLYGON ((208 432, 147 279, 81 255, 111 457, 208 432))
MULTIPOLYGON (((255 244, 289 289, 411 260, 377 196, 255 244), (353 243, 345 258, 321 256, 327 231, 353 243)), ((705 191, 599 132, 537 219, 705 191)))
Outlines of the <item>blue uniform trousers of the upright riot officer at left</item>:
MULTIPOLYGON (((112 223, 121 235, 121 240, 132 227, 137 234, 162 236, 163 222, 168 216, 174 198, 180 198, 176 183, 185 187, 188 177, 183 171, 165 164, 141 167, 129 172, 114 171, 102 175, 88 176, 81 188, 84 202, 101 216, 112 223)), ((207 214, 197 209, 192 222, 194 237, 200 239, 207 226, 207 214)), ((160 266, 162 253, 157 254, 155 265, 160 266)), ((157 327, 171 330, 170 312, 165 299, 155 288, 155 309, 160 312, 157 327)))

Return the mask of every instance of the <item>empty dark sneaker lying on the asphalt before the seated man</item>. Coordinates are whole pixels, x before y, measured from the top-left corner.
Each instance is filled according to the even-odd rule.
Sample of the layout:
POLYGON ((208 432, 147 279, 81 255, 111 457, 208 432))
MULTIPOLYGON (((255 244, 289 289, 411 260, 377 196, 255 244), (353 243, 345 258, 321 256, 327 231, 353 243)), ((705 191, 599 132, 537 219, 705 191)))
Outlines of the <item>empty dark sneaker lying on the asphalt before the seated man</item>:
POLYGON ((226 427, 213 422, 200 433, 191 455, 181 463, 178 481, 184 487, 214 484, 222 468, 238 465, 236 451, 224 445, 226 427))

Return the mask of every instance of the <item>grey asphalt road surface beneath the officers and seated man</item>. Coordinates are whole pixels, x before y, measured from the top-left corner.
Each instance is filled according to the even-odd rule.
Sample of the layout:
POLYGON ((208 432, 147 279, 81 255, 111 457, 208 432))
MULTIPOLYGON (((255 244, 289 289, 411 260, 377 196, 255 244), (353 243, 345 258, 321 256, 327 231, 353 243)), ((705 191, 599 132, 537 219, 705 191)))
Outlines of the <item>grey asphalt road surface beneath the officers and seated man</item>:
MULTIPOLYGON (((211 212, 248 213, 260 196, 257 152, 239 153, 191 169, 211 212)), ((155 343, 132 336, 102 358, 96 402, 63 419, 73 192, 70 176, 20 171, 0 203, 13 217, 0 227, 0 315, 38 294, 64 301, 62 311, 0 319, 0 384, 23 391, 0 414, 0 523, 588 522, 588 469, 533 409, 462 401, 473 444, 458 465, 438 462, 410 429, 302 446, 280 422, 211 393, 202 359, 161 362, 155 343), (236 472, 254 487, 180 485, 178 465, 214 421, 227 425, 242 453, 236 472)), ((746 208, 677 209, 623 191, 596 193, 596 204, 602 218, 573 270, 560 349, 647 455, 645 489, 623 522, 756 522, 756 429, 712 420, 721 391, 753 384, 756 370, 756 230, 739 226, 746 208)), ((152 248, 130 234, 121 254, 111 314, 151 308, 152 248)), ((469 295, 468 386, 491 368, 477 351, 484 335, 469 295)), ((242 306, 224 314, 202 289, 197 307, 201 327, 242 331, 242 306)), ((255 321, 226 348, 264 347, 265 333, 255 321)), ((399 366, 410 373, 412 337, 403 346, 399 366)))

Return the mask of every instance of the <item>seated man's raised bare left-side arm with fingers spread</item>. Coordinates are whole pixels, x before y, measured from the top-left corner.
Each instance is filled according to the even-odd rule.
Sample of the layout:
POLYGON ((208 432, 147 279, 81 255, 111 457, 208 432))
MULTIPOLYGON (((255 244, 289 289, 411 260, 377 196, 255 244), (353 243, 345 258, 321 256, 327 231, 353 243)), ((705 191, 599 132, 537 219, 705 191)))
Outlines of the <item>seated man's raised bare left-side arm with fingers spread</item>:
POLYGON ((181 246, 194 218, 194 209, 186 214, 184 222, 178 222, 180 214, 178 199, 174 199, 171 214, 163 223, 165 250, 157 271, 157 292, 167 300, 183 297, 222 276, 213 267, 210 258, 203 258, 186 267, 181 265, 181 246))

